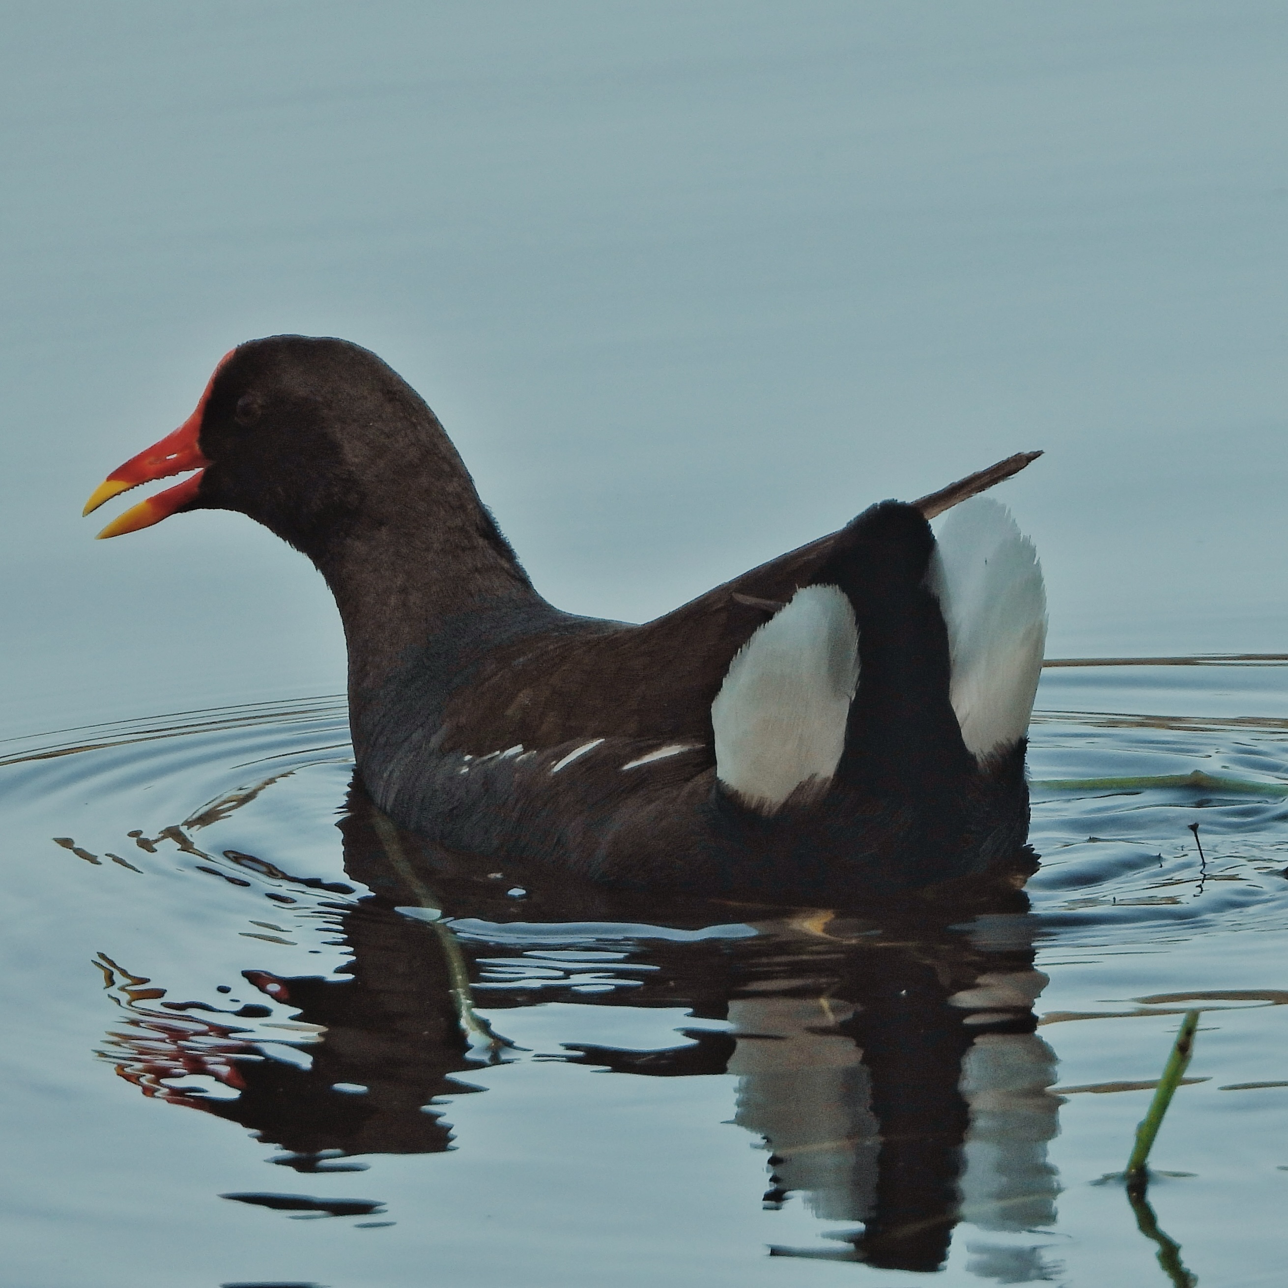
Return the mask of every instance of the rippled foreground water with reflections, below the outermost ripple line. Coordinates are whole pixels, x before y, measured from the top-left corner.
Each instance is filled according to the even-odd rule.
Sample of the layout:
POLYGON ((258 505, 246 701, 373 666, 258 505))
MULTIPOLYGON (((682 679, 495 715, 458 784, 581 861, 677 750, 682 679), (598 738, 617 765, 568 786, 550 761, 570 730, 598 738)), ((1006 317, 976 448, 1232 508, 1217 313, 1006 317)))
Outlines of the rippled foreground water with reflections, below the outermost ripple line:
POLYGON ((1038 701, 1030 908, 940 922, 383 842, 336 699, 10 741, 0 1282, 1166 1288, 1191 1006, 1154 1220, 1282 1282, 1288 667, 1038 701))

